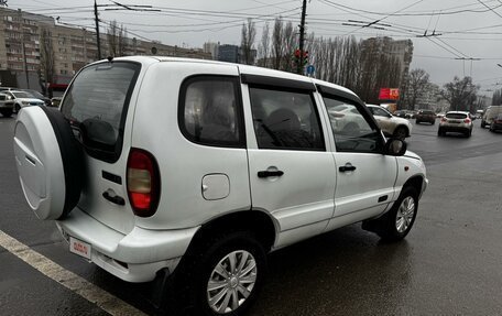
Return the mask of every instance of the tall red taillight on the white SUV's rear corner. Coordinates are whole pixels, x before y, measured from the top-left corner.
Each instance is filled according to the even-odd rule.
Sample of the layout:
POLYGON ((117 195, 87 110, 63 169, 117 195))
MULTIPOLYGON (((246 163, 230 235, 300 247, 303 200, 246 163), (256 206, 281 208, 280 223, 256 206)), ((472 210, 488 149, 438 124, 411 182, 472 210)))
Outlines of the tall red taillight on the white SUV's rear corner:
POLYGON ((128 160, 128 195, 134 215, 155 214, 160 197, 159 166, 151 153, 131 149, 128 160))

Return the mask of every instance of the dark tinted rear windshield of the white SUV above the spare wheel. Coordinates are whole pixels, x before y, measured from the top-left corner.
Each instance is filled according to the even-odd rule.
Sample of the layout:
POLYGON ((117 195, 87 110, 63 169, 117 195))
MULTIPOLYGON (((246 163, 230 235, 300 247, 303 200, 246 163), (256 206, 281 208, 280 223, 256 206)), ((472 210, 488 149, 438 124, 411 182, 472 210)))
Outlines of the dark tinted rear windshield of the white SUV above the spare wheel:
POLYGON ((140 68, 140 64, 126 62, 92 65, 78 74, 66 92, 61 110, 90 155, 118 160, 140 68))

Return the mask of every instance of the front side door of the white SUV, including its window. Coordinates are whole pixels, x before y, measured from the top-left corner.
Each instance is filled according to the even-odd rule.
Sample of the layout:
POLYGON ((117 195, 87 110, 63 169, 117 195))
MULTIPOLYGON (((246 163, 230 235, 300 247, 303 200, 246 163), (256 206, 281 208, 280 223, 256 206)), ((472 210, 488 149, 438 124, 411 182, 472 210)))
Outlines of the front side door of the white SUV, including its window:
POLYGON ((363 105, 321 90, 328 113, 340 106, 350 108, 350 116, 338 116, 336 123, 330 117, 337 168, 335 217, 347 218, 334 219, 329 228, 336 228, 385 210, 395 198, 397 162, 394 156, 382 154, 385 140, 363 105), (349 123, 352 127, 345 128, 349 123))

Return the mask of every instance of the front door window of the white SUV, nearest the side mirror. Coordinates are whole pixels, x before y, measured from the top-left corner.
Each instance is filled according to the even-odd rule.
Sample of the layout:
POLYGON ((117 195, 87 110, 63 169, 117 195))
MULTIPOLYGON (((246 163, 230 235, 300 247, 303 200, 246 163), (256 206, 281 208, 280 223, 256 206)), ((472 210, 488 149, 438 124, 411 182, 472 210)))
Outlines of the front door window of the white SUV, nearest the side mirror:
POLYGON ((380 153, 382 137, 349 101, 323 96, 338 152, 380 153))

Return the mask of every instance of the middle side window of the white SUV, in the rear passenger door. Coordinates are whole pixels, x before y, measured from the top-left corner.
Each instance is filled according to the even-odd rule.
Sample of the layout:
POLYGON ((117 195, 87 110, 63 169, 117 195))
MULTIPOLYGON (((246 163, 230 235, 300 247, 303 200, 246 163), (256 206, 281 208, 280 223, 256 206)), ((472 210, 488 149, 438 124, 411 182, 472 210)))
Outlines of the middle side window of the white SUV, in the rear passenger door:
POLYGON ((325 151, 310 92, 250 87, 254 133, 260 149, 325 151))

